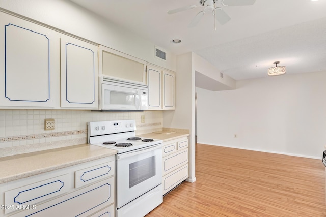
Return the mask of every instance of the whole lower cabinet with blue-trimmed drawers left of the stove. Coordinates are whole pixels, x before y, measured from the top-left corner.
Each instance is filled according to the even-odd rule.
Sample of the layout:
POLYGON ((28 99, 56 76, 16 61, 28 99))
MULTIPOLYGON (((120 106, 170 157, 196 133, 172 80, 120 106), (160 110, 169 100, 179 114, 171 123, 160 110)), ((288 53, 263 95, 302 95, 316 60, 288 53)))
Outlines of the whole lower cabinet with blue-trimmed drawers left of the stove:
POLYGON ((114 156, 0 185, 0 216, 115 216, 114 156))

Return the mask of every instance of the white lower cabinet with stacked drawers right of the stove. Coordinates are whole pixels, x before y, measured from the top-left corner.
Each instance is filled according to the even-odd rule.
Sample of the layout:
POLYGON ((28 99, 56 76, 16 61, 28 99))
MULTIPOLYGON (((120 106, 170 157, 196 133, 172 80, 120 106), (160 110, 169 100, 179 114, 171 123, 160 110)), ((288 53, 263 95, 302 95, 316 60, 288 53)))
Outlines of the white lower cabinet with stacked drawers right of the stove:
POLYGON ((163 143, 163 194, 189 177, 189 139, 182 137, 163 143))

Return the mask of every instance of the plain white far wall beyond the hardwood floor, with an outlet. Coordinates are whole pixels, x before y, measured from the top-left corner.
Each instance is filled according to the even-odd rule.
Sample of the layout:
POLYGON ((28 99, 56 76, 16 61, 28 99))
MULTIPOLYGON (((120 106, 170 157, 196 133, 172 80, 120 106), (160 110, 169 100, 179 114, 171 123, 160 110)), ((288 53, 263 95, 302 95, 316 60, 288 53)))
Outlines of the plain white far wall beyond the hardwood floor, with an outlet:
POLYGON ((235 90, 197 88, 198 143, 321 158, 325 81, 317 72, 237 81, 235 90))

